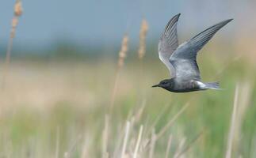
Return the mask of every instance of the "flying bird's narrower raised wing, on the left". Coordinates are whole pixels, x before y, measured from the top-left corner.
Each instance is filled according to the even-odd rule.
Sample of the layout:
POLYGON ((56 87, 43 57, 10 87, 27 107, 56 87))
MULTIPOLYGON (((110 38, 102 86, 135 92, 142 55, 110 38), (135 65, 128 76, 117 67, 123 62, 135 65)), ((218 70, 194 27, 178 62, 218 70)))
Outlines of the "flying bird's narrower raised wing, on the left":
POLYGON ((178 47, 177 22, 180 15, 179 13, 170 19, 159 40, 159 58, 166 65, 171 76, 174 76, 175 72, 169 58, 178 47))

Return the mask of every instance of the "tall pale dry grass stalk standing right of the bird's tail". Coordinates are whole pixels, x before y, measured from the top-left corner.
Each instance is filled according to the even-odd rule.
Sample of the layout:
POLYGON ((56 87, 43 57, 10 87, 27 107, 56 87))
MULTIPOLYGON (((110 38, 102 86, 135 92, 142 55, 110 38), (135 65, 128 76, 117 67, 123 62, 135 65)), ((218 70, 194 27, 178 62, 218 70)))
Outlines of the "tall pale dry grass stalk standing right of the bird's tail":
POLYGON ((236 85, 234 106, 233 106, 233 112, 231 115, 231 126, 229 129, 228 141, 227 141, 226 158, 231 158, 232 143, 233 143, 233 138, 234 138, 234 134, 235 134, 235 116, 236 116, 237 108, 238 108, 238 97, 239 97, 239 85, 236 85))

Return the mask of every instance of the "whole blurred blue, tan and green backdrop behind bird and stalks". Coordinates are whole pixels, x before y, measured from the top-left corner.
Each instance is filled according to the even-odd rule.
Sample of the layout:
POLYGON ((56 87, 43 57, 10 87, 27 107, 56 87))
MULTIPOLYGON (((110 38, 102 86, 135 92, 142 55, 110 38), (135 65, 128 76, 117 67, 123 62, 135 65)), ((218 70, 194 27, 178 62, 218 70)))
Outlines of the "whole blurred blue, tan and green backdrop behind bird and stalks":
MULTIPOLYGON (((0 72, 13 4, 0 6, 0 72)), ((168 157, 225 157, 234 103, 231 157, 255 157, 255 5, 249 0, 24 1, 0 91, 0 157, 120 157, 127 122, 125 157, 134 155, 142 125, 139 157, 150 157, 152 151, 153 157, 165 157, 170 135, 168 157), (220 81, 224 90, 171 93, 151 88, 170 77, 158 58, 158 40, 176 13, 181 13, 180 43, 218 21, 235 19, 197 58, 203 81, 220 81), (146 55, 139 60, 143 18, 149 30, 146 55), (127 58, 117 73, 124 33, 130 38, 127 58)))

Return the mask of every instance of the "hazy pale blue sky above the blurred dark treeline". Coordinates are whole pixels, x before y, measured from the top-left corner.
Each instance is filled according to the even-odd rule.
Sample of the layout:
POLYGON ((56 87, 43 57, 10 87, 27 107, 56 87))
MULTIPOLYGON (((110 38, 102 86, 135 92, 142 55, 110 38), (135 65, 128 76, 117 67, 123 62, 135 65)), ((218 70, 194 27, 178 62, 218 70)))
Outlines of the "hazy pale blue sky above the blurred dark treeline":
MULTIPOLYGON (((0 42, 7 43, 14 0, 2 0, 0 6, 0 42)), ((124 32, 136 41, 139 24, 146 17, 148 38, 157 37, 166 22, 181 13, 178 32, 195 35, 203 28, 227 18, 235 24, 250 20, 255 13, 253 1, 239 0, 23 0, 24 15, 17 28, 15 44, 44 47, 56 40, 79 44, 114 43, 124 32), (246 13, 250 13, 249 15, 246 13), (244 16, 246 15, 246 16, 244 16), (249 16, 249 17, 248 17, 249 16)), ((236 28, 229 26, 228 30, 236 28)), ((249 28, 253 28, 250 27, 249 28)), ((248 29, 249 29, 248 28, 248 29)), ((228 32, 226 30, 226 32, 228 32)), ((2 44, 1 44, 2 45, 2 44)))

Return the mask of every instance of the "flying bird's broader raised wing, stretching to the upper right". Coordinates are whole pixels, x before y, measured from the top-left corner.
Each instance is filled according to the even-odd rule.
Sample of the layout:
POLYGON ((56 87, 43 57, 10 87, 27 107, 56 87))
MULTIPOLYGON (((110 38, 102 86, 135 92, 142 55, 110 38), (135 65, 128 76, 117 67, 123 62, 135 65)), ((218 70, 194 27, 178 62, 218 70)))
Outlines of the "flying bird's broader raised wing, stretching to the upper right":
POLYGON ((181 46, 174 51, 173 55, 170 56, 170 63, 174 66, 176 77, 180 77, 183 80, 201 80, 200 71, 197 66, 197 52, 212 39, 212 36, 214 36, 220 28, 224 27, 224 25, 231 20, 232 19, 221 21, 213 25, 204 30, 204 32, 194 36, 191 40, 182 43, 181 46))

